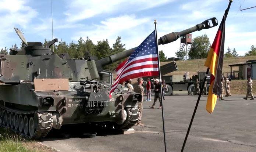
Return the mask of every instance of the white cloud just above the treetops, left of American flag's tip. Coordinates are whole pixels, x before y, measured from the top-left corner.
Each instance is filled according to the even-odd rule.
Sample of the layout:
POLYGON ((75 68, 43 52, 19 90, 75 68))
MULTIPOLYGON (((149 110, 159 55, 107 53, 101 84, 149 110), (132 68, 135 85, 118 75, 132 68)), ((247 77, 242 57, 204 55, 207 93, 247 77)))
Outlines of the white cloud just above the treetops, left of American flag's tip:
MULTIPOLYGON (((139 35, 143 33, 142 30, 144 27, 142 25, 147 24, 149 20, 149 18, 136 18, 135 15, 122 15, 108 18, 104 21, 100 21, 100 24, 94 24, 86 30, 76 32, 75 35, 72 36, 72 40, 77 40, 80 36, 88 36, 93 40, 93 43, 96 44, 99 40, 108 39, 111 46, 117 36, 121 36, 122 43, 126 44, 126 48, 132 48, 138 45, 135 44, 135 39, 140 39, 139 35), (123 37, 125 37, 125 39, 123 39, 123 37)), ((141 41, 143 41, 143 39, 141 41)))

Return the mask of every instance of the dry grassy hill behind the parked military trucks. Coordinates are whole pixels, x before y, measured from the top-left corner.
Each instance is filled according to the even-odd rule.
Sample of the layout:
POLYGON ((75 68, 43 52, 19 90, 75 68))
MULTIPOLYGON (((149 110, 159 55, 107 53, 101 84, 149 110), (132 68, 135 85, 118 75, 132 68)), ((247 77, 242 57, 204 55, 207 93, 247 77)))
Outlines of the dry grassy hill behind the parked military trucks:
MULTIPOLYGON (((229 64, 234 64, 238 62, 248 61, 256 59, 256 56, 249 57, 233 57, 233 58, 224 58, 223 61, 223 72, 230 72, 229 64)), ((185 72, 189 72, 189 76, 191 77, 196 72, 198 72, 198 65, 200 71, 206 71, 206 67, 204 66, 206 59, 192 59, 187 61, 175 61, 178 70, 167 75, 184 75, 185 72)), ((161 62, 161 65, 167 64, 169 62, 161 62)), ((233 67, 232 70, 238 70, 238 67, 233 67)))

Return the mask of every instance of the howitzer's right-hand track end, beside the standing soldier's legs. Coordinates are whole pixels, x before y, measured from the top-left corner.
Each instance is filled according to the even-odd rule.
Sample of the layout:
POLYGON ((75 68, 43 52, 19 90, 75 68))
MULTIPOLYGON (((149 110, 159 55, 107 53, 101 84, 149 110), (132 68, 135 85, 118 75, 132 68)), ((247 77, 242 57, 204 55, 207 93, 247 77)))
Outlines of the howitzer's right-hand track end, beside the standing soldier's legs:
POLYGON ((138 107, 126 108, 126 112, 128 114, 127 119, 122 125, 120 125, 120 129, 129 129, 132 126, 134 126, 135 123, 138 122, 138 117, 139 117, 138 107))

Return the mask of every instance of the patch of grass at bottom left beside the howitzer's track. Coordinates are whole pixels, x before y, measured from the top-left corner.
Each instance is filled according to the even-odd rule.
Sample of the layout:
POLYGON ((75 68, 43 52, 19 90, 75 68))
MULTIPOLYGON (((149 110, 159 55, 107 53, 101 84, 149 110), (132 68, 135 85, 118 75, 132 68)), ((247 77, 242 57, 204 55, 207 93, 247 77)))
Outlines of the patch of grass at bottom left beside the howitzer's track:
POLYGON ((10 129, 0 127, 0 152, 56 152, 37 141, 25 140, 10 129))

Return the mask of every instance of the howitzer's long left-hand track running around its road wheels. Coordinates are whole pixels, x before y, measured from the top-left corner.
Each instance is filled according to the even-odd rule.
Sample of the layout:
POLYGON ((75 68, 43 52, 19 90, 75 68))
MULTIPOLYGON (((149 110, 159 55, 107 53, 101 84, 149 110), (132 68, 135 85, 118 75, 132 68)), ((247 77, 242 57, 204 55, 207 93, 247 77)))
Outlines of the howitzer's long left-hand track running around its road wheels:
MULTIPOLYGON (((51 128, 53 127, 53 115, 51 113, 48 112, 38 112, 38 111, 21 111, 21 110, 17 110, 17 109, 10 109, 7 108, 3 105, 0 105, 0 111, 1 111, 1 119, 3 121, 2 118, 2 112, 3 110, 9 111, 9 112, 13 112, 14 115, 15 113, 17 113, 18 115, 21 114, 23 116, 27 115, 27 116, 32 116, 34 115, 34 121, 38 121, 37 125, 35 125, 35 132, 33 134, 33 136, 29 136, 24 134, 23 131, 22 133, 19 132, 19 129, 15 130, 15 128, 11 128, 11 126, 9 126, 8 128, 10 128, 11 130, 13 130, 15 133, 18 133, 20 135, 22 135, 23 137, 25 137, 26 139, 35 139, 35 140, 40 140, 42 138, 44 138, 49 131, 51 130, 51 128)), ((29 117, 28 117, 29 119, 29 117)), ((3 127, 7 127, 6 125, 2 125, 3 127)))

